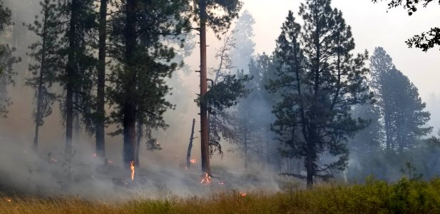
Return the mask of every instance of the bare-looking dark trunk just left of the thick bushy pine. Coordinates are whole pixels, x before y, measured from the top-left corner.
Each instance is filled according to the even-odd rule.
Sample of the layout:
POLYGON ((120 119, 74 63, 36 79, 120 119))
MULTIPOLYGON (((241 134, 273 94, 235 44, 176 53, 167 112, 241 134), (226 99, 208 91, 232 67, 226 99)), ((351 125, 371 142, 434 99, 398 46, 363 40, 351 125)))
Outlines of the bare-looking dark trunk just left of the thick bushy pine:
POLYGON ((106 121, 105 87, 106 87, 106 31, 107 31, 107 0, 101 0, 99 10, 99 53, 98 53, 98 91, 96 102, 96 155, 106 158, 106 141, 104 123, 106 121))

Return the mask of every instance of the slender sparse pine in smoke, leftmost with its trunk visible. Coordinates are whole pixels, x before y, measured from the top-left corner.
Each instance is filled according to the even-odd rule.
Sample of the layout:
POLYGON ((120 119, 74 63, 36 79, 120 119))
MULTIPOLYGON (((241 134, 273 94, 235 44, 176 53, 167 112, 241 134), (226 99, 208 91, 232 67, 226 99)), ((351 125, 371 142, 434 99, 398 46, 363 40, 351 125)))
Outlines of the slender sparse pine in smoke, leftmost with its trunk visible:
POLYGON ((56 2, 44 0, 40 2, 41 19, 37 18, 34 24, 29 24, 30 31, 39 36, 39 41, 32 44, 29 56, 37 62, 29 66, 34 75, 28 78, 26 84, 35 90, 36 107, 34 109, 35 136, 34 149, 38 147, 39 127, 43 126, 44 118, 51 115, 52 105, 56 101, 56 94, 51 92, 56 72, 60 70, 58 61, 58 36, 61 21, 56 13, 56 2))

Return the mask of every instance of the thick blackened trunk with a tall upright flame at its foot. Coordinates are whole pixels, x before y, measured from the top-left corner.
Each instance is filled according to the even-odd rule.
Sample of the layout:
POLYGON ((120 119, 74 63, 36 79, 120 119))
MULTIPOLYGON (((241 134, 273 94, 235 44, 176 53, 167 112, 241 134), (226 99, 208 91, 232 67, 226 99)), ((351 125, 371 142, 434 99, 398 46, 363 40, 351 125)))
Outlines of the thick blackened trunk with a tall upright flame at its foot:
POLYGON ((126 2, 126 75, 131 82, 125 83, 125 101, 123 103, 123 161, 127 169, 130 169, 131 163, 135 160, 135 126, 136 126, 136 106, 131 98, 133 87, 135 87, 135 59, 134 52, 136 46, 136 16, 135 0, 126 2))

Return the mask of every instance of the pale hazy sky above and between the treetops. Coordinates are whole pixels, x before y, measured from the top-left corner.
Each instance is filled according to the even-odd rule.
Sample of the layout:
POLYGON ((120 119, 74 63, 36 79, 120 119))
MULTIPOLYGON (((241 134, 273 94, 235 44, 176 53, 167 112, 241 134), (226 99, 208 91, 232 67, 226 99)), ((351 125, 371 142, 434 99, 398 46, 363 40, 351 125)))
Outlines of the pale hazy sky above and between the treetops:
MULTIPOLYGON (((242 0, 243 10, 247 9, 255 18, 253 40, 256 53, 272 53, 275 39, 287 12, 297 15, 300 0, 242 0)), ((427 8, 420 7, 412 16, 403 8, 387 12, 387 4, 373 4, 371 0, 333 0, 332 6, 340 9, 347 24, 352 26, 356 51, 367 49, 370 56, 374 47, 382 46, 392 56, 396 68, 401 70, 419 88, 423 101, 431 111, 431 121, 440 122, 440 111, 435 103, 440 103, 440 51, 436 47, 427 53, 419 49, 409 49, 404 41, 414 34, 428 31, 432 26, 440 26, 440 6, 433 2, 427 8)), ((299 17, 297 17, 299 18, 299 17)), ((220 42, 213 36, 208 39, 208 67, 215 66, 213 54, 220 42)), ((198 66, 198 49, 191 61, 198 66), (197 56, 196 56, 197 55, 197 56)), ((197 87, 197 86, 196 86, 197 87)), ((198 88, 197 88, 198 89, 198 88)), ((434 125, 434 124, 433 124, 434 125)), ((440 128, 440 123, 435 124, 440 128)))

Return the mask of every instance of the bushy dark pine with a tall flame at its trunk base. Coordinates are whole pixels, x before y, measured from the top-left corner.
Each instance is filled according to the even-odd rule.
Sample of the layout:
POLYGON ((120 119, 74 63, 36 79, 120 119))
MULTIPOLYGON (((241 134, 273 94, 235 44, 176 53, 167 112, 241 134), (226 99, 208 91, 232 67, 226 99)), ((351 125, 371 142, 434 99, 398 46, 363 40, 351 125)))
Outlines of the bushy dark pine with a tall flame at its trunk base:
POLYGON ((128 0, 116 5, 109 34, 115 65, 108 94, 114 105, 111 119, 122 124, 114 134, 123 133, 123 163, 130 168, 135 162, 136 122, 164 127, 163 113, 173 108, 164 98, 170 91, 165 78, 179 65, 171 62, 175 49, 169 41, 188 30, 189 21, 183 16, 188 4, 128 0))

